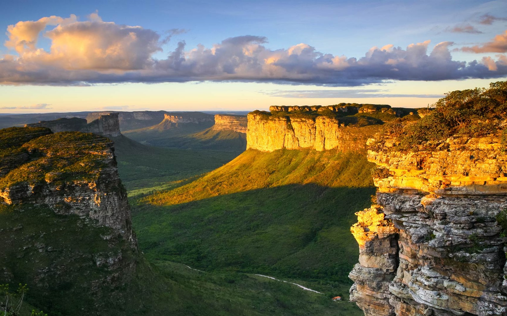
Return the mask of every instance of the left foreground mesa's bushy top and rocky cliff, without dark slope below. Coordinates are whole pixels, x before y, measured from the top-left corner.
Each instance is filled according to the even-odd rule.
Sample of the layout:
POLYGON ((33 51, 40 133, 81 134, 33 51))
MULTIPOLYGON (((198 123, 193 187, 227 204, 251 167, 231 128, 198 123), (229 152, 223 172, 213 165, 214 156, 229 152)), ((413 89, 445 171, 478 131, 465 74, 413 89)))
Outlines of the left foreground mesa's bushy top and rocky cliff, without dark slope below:
POLYGON ((0 130, 0 136, 31 133, 33 137, 14 147, 0 144, 3 158, 24 154, 16 163, 7 164, 5 159, 0 163, 4 171, 0 174, 0 204, 48 205, 58 214, 89 217, 136 247, 113 142, 76 131, 53 134, 42 129, 32 132, 39 131, 33 127, 13 128, 17 129, 0 130))

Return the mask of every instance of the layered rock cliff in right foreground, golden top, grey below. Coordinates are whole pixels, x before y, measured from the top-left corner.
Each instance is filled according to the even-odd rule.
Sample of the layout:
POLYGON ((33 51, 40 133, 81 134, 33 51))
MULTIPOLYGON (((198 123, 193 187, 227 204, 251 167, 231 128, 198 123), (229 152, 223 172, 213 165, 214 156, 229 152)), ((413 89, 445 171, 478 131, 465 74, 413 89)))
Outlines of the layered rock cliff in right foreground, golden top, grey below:
MULTIPOLYGON (((387 141, 386 144, 392 144, 387 141)), ((389 145, 391 146, 391 145, 389 145)), ((507 155, 499 139, 436 150, 369 151, 377 203, 351 232, 351 300, 365 315, 504 315, 507 155)))

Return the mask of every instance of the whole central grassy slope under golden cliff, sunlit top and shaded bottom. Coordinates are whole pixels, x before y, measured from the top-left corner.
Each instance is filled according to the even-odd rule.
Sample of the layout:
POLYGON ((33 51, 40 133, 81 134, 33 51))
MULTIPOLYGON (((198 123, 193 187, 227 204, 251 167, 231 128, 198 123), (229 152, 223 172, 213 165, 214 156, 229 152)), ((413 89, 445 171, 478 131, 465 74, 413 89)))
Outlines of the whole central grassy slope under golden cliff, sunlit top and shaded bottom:
POLYGON ((357 262, 349 227, 375 192, 370 168, 336 151, 246 151, 193 183, 137 200, 134 227, 150 260, 346 296, 357 262))

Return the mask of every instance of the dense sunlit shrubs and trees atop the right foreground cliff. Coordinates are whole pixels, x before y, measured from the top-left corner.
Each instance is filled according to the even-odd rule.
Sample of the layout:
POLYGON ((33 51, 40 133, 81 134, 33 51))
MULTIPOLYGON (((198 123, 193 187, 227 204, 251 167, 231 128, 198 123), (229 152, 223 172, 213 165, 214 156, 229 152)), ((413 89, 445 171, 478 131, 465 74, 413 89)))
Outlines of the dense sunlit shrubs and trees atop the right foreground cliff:
POLYGON ((433 107, 413 124, 395 121, 386 126, 390 136, 400 141, 399 149, 413 151, 451 136, 483 137, 499 132, 507 119, 507 81, 449 92, 433 107))

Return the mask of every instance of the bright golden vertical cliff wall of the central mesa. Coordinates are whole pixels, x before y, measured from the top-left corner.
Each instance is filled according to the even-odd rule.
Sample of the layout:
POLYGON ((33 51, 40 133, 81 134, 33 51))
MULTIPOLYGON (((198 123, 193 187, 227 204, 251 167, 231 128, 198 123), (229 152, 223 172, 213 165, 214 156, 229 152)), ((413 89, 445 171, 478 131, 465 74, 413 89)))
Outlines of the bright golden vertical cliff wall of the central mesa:
POLYGON ((261 151, 278 149, 338 149, 366 153, 368 138, 378 126, 344 127, 335 118, 274 117, 249 113, 246 148, 261 151))

